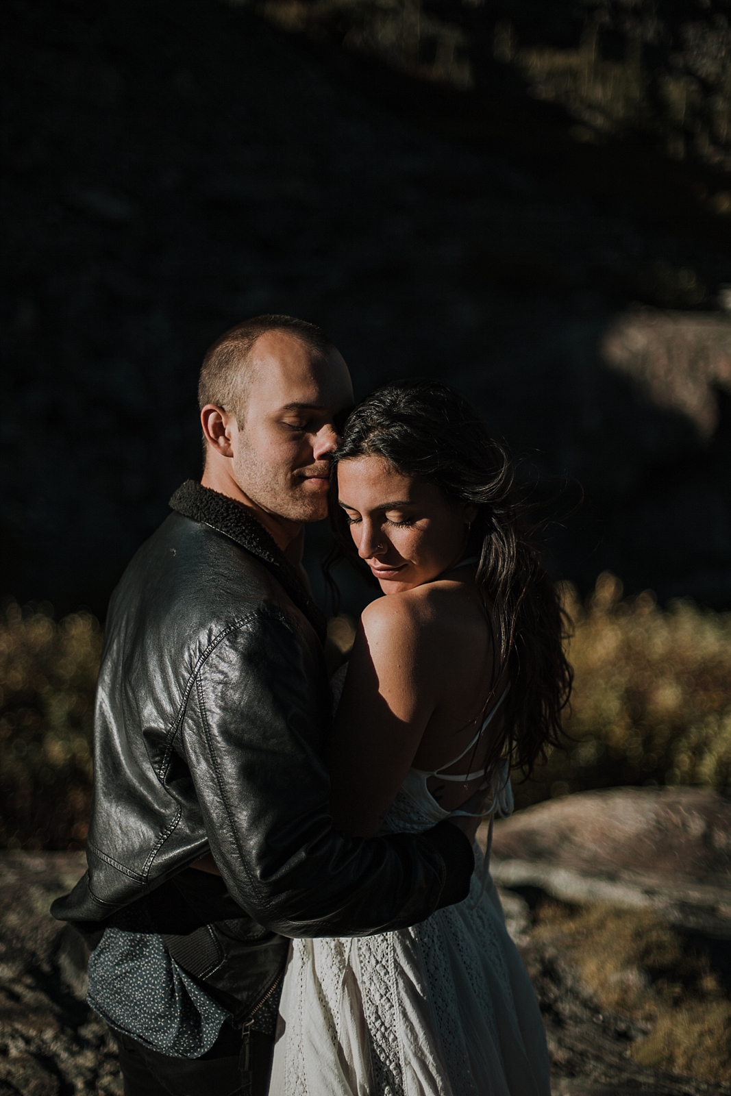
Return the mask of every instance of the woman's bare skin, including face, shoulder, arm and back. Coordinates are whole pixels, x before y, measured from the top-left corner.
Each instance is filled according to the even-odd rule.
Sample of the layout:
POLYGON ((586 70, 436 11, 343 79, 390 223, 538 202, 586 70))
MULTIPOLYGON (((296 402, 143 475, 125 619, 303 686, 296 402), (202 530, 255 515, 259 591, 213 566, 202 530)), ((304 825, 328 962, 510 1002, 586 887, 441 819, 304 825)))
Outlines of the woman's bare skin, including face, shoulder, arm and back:
MULTIPOLYGON (((387 595, 361 617, 330 751, 336 824, 369 836, 412 765, 449 765, 473 734, 491 644, 473 572, 457 569, 478 507, 375 454, 340 461, 338 488, 358 555, 387 595)), ((447 811, 479 813, 484 789, 472 785, 470 797, 470 783, 445 787, 436 776, 427 788, 447 811)), ((476 820, 449 821, 473 836, 476 820)))

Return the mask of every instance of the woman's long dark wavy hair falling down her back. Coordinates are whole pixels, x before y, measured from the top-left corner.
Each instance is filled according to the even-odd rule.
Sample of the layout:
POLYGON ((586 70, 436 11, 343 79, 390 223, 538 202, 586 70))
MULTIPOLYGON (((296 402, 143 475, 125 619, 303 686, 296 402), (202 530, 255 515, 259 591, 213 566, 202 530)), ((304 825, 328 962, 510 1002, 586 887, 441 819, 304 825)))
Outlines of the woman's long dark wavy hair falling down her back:
MULTIPOLYGON (((511 681, 503 732, 487 764, 506 757, 529 776, 546 747, 560 745, 572 674, 558 592, 526 533, 507 454, 454 388, 437 380, 400 380, 367 396, 352 412, 333 458, 335 470, 343 460, 372 455, 435 483, 453 502, 479 507, 467 553, 479 556, 477 586, 493 632, 493 685, 486 708, 503 671, 511 681)), ((335 544, 325 574, 344 557, 372 579, 338 503, 336 475, 330 490, 335 544)))

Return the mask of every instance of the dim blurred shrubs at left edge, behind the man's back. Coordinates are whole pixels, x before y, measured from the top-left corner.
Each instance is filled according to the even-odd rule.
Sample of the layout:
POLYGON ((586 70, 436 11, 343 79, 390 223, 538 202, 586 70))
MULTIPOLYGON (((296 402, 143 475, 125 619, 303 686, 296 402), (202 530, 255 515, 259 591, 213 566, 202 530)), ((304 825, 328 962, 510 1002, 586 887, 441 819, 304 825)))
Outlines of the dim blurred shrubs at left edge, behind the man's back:
POLYGON ((87 613, 0 616, 0 844, 82 848, 91 790, 93 694, 102 636, 87 613))

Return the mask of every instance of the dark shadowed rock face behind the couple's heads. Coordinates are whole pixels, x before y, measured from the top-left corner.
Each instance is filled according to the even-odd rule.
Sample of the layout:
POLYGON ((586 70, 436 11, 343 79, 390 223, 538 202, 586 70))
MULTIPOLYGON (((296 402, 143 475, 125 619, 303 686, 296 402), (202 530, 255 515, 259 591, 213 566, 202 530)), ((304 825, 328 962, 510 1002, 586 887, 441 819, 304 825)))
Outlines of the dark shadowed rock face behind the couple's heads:
POLYGON ((731 604, 712 163, 584 140, 512 60, 488 110, 217 0, 2 19, 3 593, 104 612, 198 470, 204 350, 272 310, 331 331, 362 393, 468 392, 564 515, 558 573, 731 604))

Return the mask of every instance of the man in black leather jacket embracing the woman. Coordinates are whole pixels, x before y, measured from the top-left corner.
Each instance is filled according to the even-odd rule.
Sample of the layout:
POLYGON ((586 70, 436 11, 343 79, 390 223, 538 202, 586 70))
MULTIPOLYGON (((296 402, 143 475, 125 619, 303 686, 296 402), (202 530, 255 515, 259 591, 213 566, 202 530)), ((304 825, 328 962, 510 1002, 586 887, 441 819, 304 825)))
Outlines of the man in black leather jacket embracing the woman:
POLYGON ((324 334, 240 323, 201 373, 205 469, 110 605, 89 870, 54 903, 93 948, 89 1001, 127 1096, 266 1092, 292 936, 413 924, 461 901, 471 820, 332 827, 324 621, 301 567, 353 402, 324 334))

